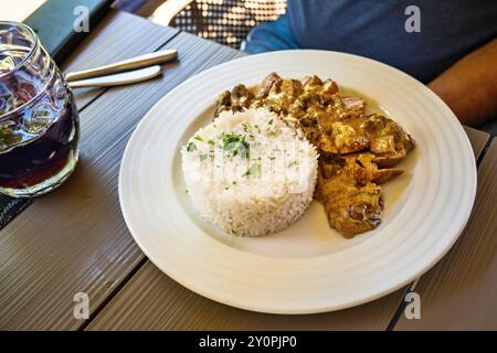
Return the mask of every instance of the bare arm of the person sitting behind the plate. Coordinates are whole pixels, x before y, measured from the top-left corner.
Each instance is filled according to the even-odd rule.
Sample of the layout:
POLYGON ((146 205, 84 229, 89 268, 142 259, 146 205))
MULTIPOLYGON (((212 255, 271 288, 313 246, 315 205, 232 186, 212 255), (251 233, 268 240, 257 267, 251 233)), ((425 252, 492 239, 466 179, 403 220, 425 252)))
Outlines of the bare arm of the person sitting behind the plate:
POLYGON ((429 84, 462 124, 497 117, 497 39, 464 56, 429 84))

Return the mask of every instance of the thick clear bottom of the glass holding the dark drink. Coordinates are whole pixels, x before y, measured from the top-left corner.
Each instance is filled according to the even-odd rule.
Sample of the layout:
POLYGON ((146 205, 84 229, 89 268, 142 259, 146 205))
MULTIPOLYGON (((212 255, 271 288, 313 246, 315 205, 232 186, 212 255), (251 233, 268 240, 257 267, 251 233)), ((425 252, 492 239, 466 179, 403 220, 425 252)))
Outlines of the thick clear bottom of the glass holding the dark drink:
POLYGON ((70 161, 63 169, 59 171, 55 175, 44 180, 43 182, 31 185, 23 189, 11 189, 11 188, 0 188, 0 193, 6 194, 11 197, 36 197, 51 192, 57 186, 62 185, 67 178, 71 176, 73 171, 76 169, 78 160, 77 150, 73 151, 70 161))

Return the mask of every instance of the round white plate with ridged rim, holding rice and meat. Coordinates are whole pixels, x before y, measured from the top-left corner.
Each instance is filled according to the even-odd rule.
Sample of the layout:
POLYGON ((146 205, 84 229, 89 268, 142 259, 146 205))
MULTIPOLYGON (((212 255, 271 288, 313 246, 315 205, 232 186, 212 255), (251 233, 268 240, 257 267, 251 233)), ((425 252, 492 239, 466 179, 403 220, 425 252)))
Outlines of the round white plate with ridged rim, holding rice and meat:
POLYGON ((141 120, 119 175, 126 224, 144 253, 171 278, 210 299, 254 311, 311 313, 357 306, 430 269, 457 239, 476 192, 473 150, 447 106, 388 65, 324 51, 247 56, 205 71, 163 97, 141 120), (229 236, 202 221, 184 192, 180 146, 211 119, 213 101, 239 83, 317 74, 372 98, 416 140, 385 190, 373 232, 345 239, 319 204, 288 229, 261 238, 229 236))

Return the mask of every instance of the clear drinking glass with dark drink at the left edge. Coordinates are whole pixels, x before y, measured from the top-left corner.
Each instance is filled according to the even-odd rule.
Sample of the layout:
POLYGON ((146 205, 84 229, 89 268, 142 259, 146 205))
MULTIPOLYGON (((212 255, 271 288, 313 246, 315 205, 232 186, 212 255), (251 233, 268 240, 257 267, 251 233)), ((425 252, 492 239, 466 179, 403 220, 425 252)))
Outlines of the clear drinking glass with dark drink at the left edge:
POLYGON ((0 21, 0 193, 31 197, 62 184, 78 138, 73 94, 38 35, 0 21))

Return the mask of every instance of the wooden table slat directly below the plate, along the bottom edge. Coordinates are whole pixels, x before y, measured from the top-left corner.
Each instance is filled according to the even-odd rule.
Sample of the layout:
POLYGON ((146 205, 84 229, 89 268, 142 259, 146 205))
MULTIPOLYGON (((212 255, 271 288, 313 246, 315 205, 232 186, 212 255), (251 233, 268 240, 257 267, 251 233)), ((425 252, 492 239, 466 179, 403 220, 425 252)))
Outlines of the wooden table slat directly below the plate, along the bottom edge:
POLYGON ((147 261, 87 330, 384 330, 404 292, 337 312, 266 314, 205 299, 147 261))

